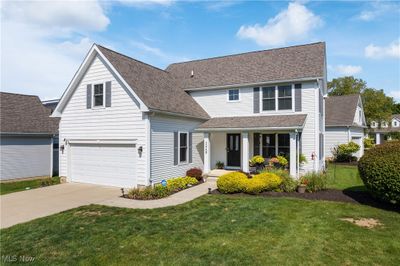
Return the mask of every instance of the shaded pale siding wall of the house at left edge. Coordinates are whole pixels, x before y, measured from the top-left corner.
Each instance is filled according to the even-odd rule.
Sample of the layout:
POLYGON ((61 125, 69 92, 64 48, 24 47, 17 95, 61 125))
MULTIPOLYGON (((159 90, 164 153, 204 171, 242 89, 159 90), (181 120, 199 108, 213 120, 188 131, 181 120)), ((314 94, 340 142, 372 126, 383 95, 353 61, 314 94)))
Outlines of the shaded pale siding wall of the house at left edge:
POLYGON ((0 180, 50 176, 50 137, 1 137, 0 180))

